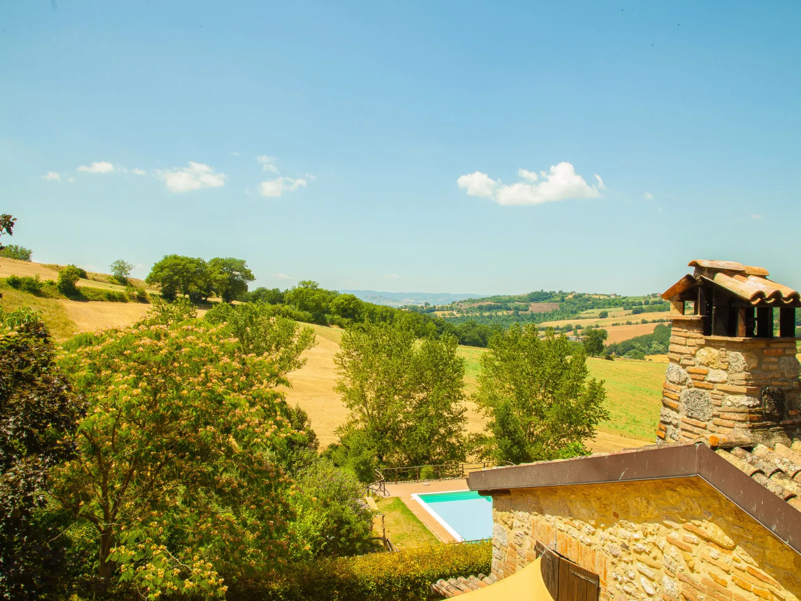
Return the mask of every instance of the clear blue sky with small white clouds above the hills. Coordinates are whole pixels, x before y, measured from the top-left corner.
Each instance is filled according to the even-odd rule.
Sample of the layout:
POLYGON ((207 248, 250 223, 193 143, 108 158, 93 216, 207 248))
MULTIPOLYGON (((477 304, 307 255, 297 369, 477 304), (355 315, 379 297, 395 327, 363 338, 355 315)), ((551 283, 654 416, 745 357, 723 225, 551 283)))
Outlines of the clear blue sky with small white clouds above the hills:
POLYGON ((638 293, 709 258, 801 286, 798 2, 8 0, 0 30, 0 212, 34 260, 638 293))

